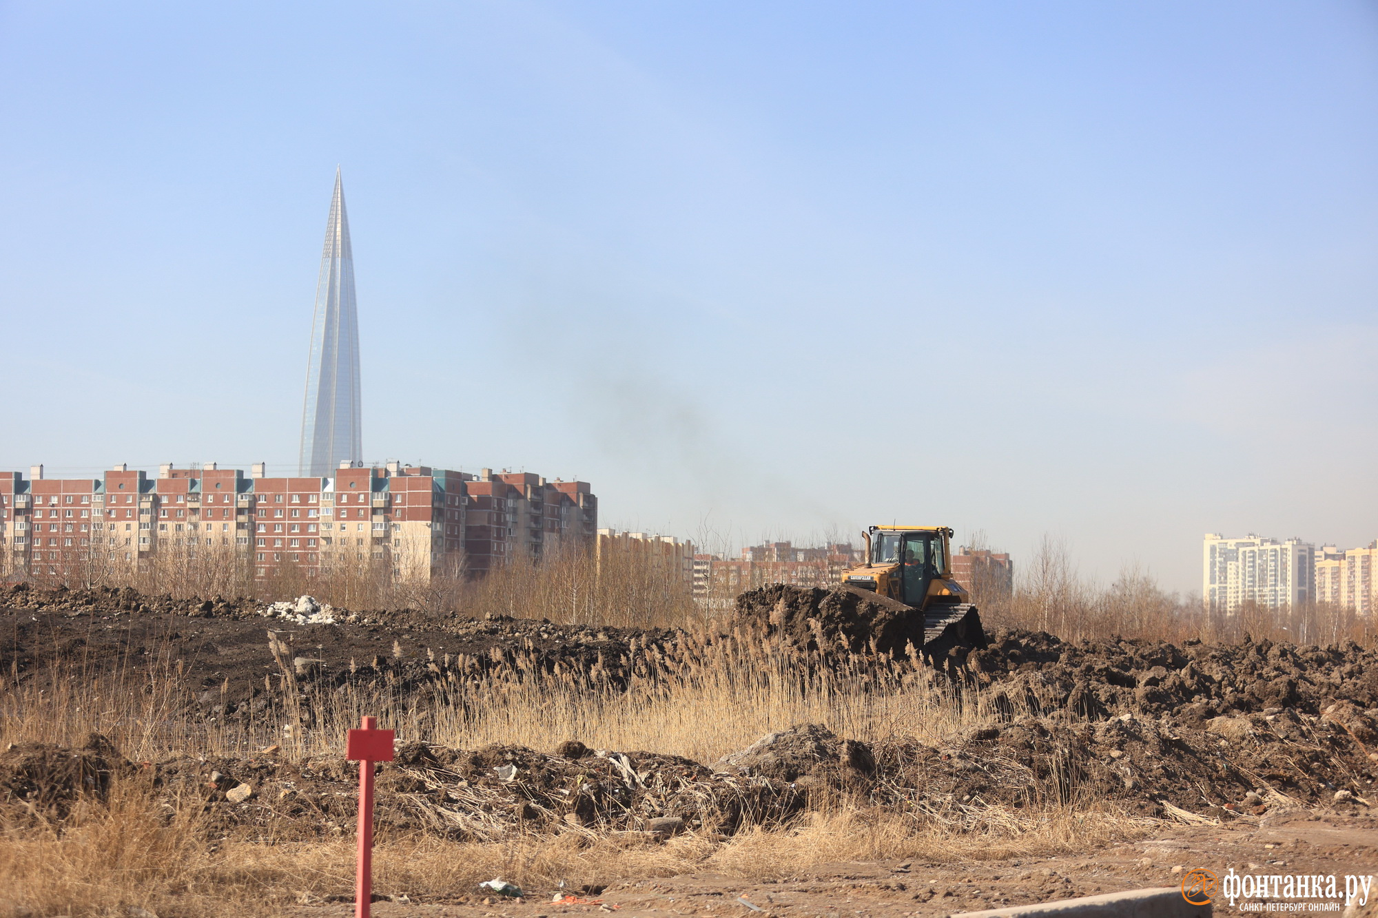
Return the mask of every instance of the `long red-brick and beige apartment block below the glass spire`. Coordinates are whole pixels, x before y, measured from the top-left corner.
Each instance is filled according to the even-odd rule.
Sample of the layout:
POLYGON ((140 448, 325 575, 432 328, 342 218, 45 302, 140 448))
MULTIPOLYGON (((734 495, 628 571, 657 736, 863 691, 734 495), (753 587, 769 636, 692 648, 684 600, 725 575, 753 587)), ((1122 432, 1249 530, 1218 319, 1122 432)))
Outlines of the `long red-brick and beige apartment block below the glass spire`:
POLYGON ((398 576, 481 576, 518 553, 594 539, 587 482, 342 463, 333 477, 269 477, 255 465, 114 466, 95 478, 0 473, 0 575, 79 575, 158 555, 233 554, 256 576, 386 561, 398 576))

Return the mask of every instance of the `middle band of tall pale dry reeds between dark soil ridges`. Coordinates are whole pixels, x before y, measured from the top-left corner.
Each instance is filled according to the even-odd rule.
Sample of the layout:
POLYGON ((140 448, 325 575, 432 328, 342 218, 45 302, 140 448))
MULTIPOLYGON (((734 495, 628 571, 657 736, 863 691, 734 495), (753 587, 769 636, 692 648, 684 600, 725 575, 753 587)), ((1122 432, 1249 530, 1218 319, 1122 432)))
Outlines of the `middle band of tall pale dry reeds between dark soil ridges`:
POLYGON ((934 743, 988 721, 978 695, 959 703, 943 680, 916 663, 850 656, 821 667, 779 644, 693 634, 668 652, 634 653, 637 673, 626 684, 606 674, 532 678, 533 655, 518 653, 511 666, 455 680, 424 703, 386 688, 309 689, 314 693, 306 710, 284 692, 255 720, 216 724, 186 714, 200 686, 187 685, 154 648, 147 660, 131 660, 113 675, 73 666, 44 680, 6 680, 0 743, 70 746, 102 733, 141 761, 172 750, 241 755, 270 743, 298 755, 338 754, 344 731, 367 713, 395 728, 400 742, 550 750, 579 739, 712 762, 795 724, 823 724, 865 742, 914 736, 934 743))

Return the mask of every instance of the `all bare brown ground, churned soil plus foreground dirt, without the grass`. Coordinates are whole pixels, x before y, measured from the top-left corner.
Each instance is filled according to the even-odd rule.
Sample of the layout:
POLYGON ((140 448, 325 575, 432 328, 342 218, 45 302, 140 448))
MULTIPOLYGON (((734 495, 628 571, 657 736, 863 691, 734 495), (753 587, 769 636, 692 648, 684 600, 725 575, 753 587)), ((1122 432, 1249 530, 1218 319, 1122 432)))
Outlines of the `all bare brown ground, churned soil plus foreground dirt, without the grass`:
MULTIPOLYGON (((189 686, 193 720, 254 718, 291 692, 309 699, 343 686, 424 702, 497 671, 620 691, 719 641, 776 641, 801 670, 908 666, 981 714, 983 726, 937 743, 903 735, 861 742, 801 724, 743 737, 717 762, 595 750, 576 737, 551 737, 539 750, 413 742, 378 766, 383 837, 485 842, 575 833, 655 848, 788 830, 802 813, 839 804, 980 831, 992 808, 1094 801, 1163 826, 1148 841, 1079 857, 838 864, 779 882, 693 875, 577 895, 539 890, 521 903, 485 904, 475 890, 427 903, 398 893, 398 904, 379 903, 382 915, 757 914, 752 907, 927 915, 1171 885, 1180 867, 1375 866, 1378 652, 1352 642, 1072 644, 998 631, 988 648, 962 655, 952 675, 907 660, 912 635, 903 611, 794 587, 743 594, 734 618, 693 633, 127 591, 10 590, 0 606, 0 666, 12 691, 161 674, 189 686)), ((344 838, 356 780, 357 766, 338 755, 288 757, 267 746, 237 758, 189 750, 134 761, 92 735, 73 748, 18 743, 0 751, 0 810, 10 824, 61 823, 80 801, 130 782, 168 812, 198 812, 215 838, 344 838)), ((296 914, 346 911, 303 900, 296 914)))

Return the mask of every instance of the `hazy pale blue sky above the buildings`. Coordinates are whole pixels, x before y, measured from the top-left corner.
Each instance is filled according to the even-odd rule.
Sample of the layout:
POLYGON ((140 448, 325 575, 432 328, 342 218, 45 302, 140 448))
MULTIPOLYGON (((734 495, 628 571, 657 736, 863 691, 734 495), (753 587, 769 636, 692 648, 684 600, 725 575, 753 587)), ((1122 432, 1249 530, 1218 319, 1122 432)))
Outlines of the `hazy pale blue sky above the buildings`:
POLYGON ((369 459, 1197 590, 1378 536, 1371 3, 0 3, 0 467, 369 459))

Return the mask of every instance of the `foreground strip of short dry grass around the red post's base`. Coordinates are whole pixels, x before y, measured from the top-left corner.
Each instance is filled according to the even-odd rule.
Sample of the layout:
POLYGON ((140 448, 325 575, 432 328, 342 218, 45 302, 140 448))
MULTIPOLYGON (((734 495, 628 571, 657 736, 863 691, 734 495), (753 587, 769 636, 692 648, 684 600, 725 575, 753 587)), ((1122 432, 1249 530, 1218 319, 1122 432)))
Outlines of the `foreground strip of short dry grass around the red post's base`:
MULTIPOLYGON (((492 877, 550 890, 561 879, 577 888, 692 871, 784 879, 835 861, 951 863, 1084 852, 1156 826, 1108 809, 1002 816, 985 831, 952 833, 903 813, 847 809, 812 813, 785 831, 730 839, 690 834, 664 845, 580 834, 480 845, 384 833, 375 855, 375 890, 444 899, 473 895, 492 877)), ((168 820, 136 794, 91 806, 61 831, 8 828, 0 839, 0 881, 14 890, 10 914, 130 915, 143 908, 163 918, 271 915, 353 888, 350 839, 208 844, 194 813, 168 820)))

